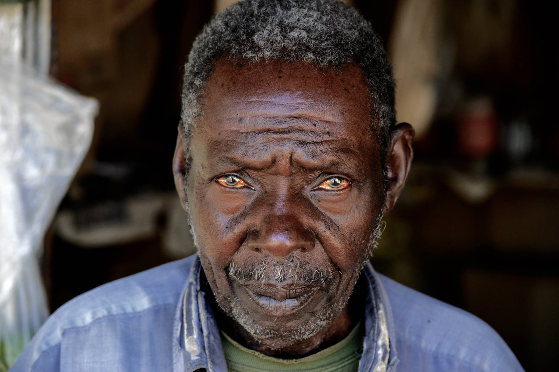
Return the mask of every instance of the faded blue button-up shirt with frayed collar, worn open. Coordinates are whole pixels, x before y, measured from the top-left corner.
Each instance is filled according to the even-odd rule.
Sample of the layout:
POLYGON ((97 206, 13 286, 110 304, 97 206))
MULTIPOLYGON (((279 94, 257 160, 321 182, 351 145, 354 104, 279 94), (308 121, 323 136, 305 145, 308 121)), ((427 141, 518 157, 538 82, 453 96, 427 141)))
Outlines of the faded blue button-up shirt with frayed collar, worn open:
MULTIPOLYGON (((226 371, 195 255, 103 285, 46 321, 11 372, 226 371)), ((378 275, 367 263, 360 372, 523 371, 471 314, 378 275)))

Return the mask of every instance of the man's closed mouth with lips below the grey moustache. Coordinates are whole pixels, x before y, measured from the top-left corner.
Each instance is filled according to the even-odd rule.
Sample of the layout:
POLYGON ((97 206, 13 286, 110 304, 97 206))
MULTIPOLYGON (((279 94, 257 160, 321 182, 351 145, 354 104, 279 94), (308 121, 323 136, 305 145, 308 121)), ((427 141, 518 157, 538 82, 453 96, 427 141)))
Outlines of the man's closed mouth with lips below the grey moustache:
POLYGON ((297 312, 311 302, 318 287, 301 283, 247 285, 248 298, 267 316, 279 318, 297 312))

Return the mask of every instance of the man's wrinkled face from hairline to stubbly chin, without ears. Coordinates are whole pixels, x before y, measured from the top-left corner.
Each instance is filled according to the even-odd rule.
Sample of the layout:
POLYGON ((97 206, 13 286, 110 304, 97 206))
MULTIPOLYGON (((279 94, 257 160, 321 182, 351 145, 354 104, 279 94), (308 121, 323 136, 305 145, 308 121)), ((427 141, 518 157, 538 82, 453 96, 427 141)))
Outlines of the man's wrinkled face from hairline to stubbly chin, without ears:
POLYGON ((210 286, 272 349, 305 340, 347 304, 383 206, 366 81, 221 59, 201 102, 186 193, 210 286))

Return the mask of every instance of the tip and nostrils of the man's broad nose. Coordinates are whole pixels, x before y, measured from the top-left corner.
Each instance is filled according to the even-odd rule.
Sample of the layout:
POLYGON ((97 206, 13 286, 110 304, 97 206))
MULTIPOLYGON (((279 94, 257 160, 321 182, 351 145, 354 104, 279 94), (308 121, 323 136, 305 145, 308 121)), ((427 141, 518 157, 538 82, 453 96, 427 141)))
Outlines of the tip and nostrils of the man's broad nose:
POLYGON ((248 247, 255 252, 266 251, 276 258, 283 258, 294 251, 310 252, 315 246, 315 236, 295 215, 268 215, 258 229, 247 236, 248 247))

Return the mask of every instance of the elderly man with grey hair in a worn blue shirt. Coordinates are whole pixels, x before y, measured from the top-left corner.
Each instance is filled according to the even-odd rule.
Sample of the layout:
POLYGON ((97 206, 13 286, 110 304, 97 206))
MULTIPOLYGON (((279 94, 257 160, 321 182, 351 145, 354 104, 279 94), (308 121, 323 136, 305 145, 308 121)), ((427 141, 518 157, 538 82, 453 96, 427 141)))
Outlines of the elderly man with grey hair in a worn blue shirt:
POLYGON ((196 39, 182 98, 197 255, 64 305, 13 371, 522 371, 485 323, 368 263, 414 130, 357 11, 236 3, 196 39))

